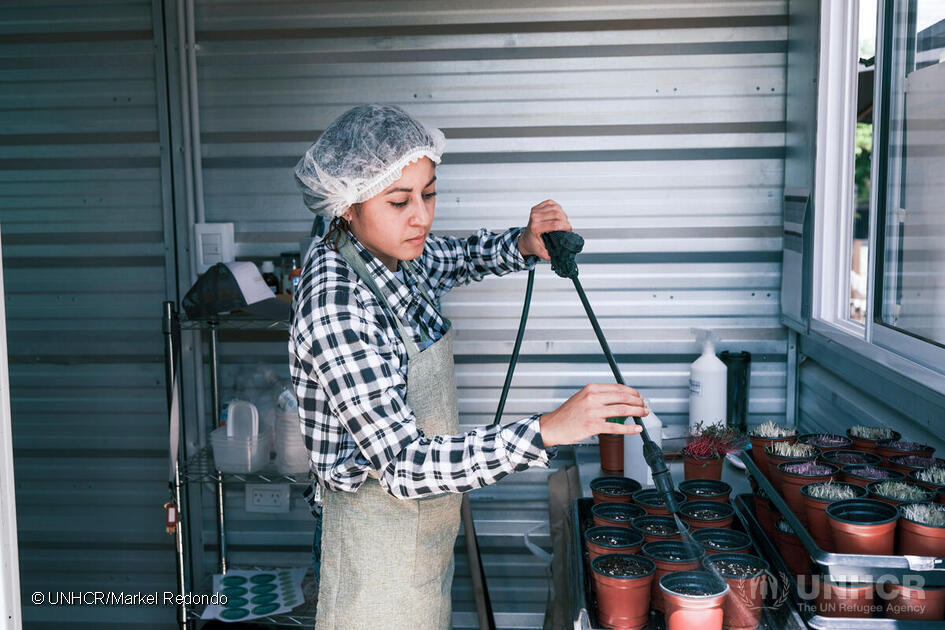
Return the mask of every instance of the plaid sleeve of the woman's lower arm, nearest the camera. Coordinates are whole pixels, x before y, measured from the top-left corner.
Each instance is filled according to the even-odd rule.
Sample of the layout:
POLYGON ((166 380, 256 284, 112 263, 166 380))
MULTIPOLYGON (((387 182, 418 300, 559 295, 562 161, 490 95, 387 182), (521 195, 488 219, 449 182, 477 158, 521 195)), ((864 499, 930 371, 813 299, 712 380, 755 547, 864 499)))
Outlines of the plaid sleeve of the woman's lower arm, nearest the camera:
MULTIPOLYGON (((511 472, 547 466, 537 414, 461 435, 425 436, 405 400, 406 381, 389 337, 395 333, 365 315, 353 290, 323 291, 316 301, 295 339, 299 372, 325 393, 330 421, 341 423, 390 494, 419 498, 466 492, 511 472)), ((305 407, 300 401, 303 415, 305 407)), ((319 448, 317 439, 306 443, 319 448)), ((366 468, 364 475, 349 471, 339 482, 327 455, 313 453, 323 483, 341 490, 363 483, 366 468)))

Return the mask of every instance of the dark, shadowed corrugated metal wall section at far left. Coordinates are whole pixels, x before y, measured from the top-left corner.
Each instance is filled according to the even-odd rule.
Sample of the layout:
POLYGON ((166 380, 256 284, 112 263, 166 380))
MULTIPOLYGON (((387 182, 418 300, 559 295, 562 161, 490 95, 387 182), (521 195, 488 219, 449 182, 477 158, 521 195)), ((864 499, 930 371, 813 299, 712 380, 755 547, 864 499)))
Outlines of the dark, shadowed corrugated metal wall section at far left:
POLYGON ((150 1, 0 7, 0 221, 26 628, 174 620, 173 607, 30 601, 34 591, 174 590, 159 319, 174 254, 163 35, 152 11, 150 1))

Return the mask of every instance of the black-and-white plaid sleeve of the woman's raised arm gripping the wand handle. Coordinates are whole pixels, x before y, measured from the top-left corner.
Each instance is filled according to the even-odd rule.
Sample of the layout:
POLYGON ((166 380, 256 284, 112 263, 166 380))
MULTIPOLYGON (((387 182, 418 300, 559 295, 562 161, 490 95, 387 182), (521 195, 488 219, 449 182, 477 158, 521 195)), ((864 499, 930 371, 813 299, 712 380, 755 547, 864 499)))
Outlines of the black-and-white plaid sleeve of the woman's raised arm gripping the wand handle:
POLYGON ((478 282, 486 274, 504 276, 534 268, 540 259, 524 257, 518 250, 518 239, 524 231, 523 227, 504 232, 482 228, 467 238, 431 234, 420 256, 430 286, 439 297, 454 286, 478 282))

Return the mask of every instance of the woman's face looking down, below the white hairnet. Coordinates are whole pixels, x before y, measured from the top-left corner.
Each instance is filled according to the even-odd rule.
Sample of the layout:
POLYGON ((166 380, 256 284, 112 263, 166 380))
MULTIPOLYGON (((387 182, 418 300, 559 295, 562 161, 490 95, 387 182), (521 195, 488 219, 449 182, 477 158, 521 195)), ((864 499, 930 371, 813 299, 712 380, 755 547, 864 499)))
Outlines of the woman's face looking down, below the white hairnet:
POLYGON ((436 207, 436 170, 429 158, 404 167, 400 179, 360 208, 349 208, 351 232, 369 252, 397 271, 400 260, 413 260, 423 244, 436 207))

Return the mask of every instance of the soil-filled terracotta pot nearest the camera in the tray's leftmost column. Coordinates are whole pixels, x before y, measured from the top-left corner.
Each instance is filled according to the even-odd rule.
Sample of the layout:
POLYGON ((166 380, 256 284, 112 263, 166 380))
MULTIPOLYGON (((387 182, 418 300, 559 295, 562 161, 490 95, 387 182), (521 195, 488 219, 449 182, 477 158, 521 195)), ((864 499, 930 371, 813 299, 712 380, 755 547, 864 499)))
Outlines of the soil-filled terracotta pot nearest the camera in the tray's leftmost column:
POLYGON ((645 628, 650 617, 650 589, 656 566, 639 555, 607 554, 591 562, 594 591, 597 593, 597 618, 601 625, 617 630, 645 628), (605 575, 600 567, 608 558, 626 558, 643 565, 643 575, 605 575))

